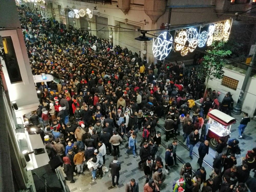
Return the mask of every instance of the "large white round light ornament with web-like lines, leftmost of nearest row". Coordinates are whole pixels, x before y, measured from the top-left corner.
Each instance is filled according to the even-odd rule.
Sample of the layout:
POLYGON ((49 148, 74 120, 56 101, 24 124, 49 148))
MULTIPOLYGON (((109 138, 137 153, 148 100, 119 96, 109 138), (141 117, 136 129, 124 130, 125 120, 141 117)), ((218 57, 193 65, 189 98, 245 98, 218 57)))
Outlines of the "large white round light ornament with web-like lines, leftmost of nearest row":
POLYGON ((156 59, 162 60, 166 58, 173 46, 173 37, 168 32, 161 33, 154 41, 153 41, 153 55, 156 59))

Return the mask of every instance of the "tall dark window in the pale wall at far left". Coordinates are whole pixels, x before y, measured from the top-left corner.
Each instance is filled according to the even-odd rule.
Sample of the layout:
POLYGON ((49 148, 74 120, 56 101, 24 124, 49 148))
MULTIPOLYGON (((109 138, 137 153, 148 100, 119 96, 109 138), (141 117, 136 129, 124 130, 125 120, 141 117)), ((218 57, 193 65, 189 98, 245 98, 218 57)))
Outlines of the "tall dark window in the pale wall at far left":
POLYGON ((22 81, 11 37, 3 37, 4 61, 11 83, 22 81))

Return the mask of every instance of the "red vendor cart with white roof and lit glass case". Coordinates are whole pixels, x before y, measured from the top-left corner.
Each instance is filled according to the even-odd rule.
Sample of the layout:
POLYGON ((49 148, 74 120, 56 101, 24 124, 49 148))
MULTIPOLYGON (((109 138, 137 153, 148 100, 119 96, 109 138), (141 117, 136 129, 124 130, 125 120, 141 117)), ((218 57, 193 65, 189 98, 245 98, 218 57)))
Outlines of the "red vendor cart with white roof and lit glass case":
POLYGON ((210 138, 211 144, 216 147, 220 138, 223 138, 226 143, 231 125, 236 122, 236 119, 217 109, 209 111, 207 115, 210 123, 207 136, 210 138))

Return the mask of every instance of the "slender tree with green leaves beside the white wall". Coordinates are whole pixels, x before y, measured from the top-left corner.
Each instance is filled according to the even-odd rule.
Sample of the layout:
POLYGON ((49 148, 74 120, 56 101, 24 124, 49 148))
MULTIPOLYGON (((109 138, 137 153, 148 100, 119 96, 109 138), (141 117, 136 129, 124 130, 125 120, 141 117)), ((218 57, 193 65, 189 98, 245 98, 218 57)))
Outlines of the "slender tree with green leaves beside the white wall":
POLYGON ((224 75, 222 68, 225 62, 223 58, 231 54, 230 50, 225 50, 225 43, 226 42, 224 41, 214 41, 211 47, 206 51, 209 54, 204 56, 204 59, 197 70, 198 78, 206 80, 204 100, 209 80, 214 78, 221 79, 224 75))

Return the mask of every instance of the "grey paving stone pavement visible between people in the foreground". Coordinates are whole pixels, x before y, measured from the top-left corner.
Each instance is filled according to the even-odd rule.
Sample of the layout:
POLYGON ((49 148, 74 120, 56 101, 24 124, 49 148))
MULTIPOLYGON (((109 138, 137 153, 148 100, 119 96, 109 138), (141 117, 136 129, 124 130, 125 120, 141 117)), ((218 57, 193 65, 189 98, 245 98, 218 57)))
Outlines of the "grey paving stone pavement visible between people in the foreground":
MULTIPOLYGON (((233 124, 231 126, 231 138, 237 138, 238 137, 238 126, 240 124, 240 121, 242 119, 242 115, 234 115, 234 118, 237 119, 237 123, 233 124)), ((159 120, 159 125, 163 126, 164 120, 160 119, 159 120)), ((162 142, 166 145, 168 145, 168 143, 164 142, 163 140, 165 139, 165 135, 164 135, 164 131, 161 130, 159 127, 156 127, 157 130, 161 131, 162 133, 162 142)), ((139 145, 141 143, 142 140, 142 132, 138 132, 138 136, 137 136, 137 153, 139 153, 139 145)), ((241 148, 241 155, 237 155, 237 163, 238 165, 241 164, 240 161, 240 157, 241 156, 245 156, 247 150, 251 150, 253 147, 256 147, 256 123, 255 121, 251 120, 251 122, 248 123, 245 132, 244 132, 244 138, 243 139, 239 139, 239 146, 241 148)), ((178 138, 181 138, 182 136, 178 136, 178 138)), ((171 142, 172 140, 170 140, 171 142)), ((67 181, 67 185, 69 186, 70 191, 72 192, 77 192, 77 191, 88 191, 88 190, 93 190, 93 191, 125 191, 125 185, 127 182, 129 182, 131 180, 131 178, 134 178, 136 180, 136 182, 138 182, 139 184, 139 191, 143 191, 143 186, 145 184, 145 175, 142 169, 138 169, 138 162, 140 161, 140 157, 138 156, 137 158, 134 158, 131 155, 127 156, 124 152, 127 149, 128 143, 127 143, 127 139, 124 141, 124 145, 120 145, 120 157, 118 158, 119 162, 121 162, 121 170, 120 170, 120 179, 119 179, 119 186, 118 187, 114 187, 112 188, 112 182, 111 182, 111 177, 109 178, 108 176, 110 176, 110 172, 105 173, 103 175, 103 178, 100 180, 95 180, 94 182, 92 182, 92 176, 91 173, 89 172, 88 169, 86 169, 84 171, 84 173, 86 174, 85 176, 75 176, 74 180, 75 183, 71 184, 69 181, 67 181)), ((194 152, 198 153, 198 146, 199 143, 194 147, 194 152)), ((197 158, 194 158, 193 160, 191 160, 190 158, 188 158, 188 152, 186 152, 186 147, 183 147, 182 145, 179 145, 177 148, 177 155, 180 155, 183 160, 185 162, 190 162, 191 165, 193 166, 193 168, 196 170, 197 168, 199 168, 199 166, 196 166, 196 162, 197 162, 197 158), (184 152, 185 151, 185 152, 184 152), (187 154, 186 154, 187 153, 187 154)), ((107 150, 108 151, 108 150, 107 150)), ((162 160, 164 162, 164 154, 165 154, 165 148, 161 145, 160 147, 160 156, 162 157, 162 160)), ((209 163, 210 165, 212 165, 213 162, 213 157, 215 154, 215 150, 214 148, 212 148, 212 146, 210 145, 210 151, 209 154, 205 157, 205 161, 207 163, 209 163)), ((107 155, 106 156, 106 166, 109 166, 109 163, 112 161, 113 156, 107 155)), ((178 161, 178 163, 180 165, 182 165, 181 162, 178 161)), ((210 168, 207 167, 205 164, 203 164, 203 166, 206 167, 206 171, 207 171, 207 178, 209 176, 210 173, 210 168)), ((163 184, 162 190, 163 192, 170 192, 173 191, 172 189, 172 185, 173 182, 179 179, 179 172, 180 172, 181 167, 173 167, 171 169, 171 172, 169 173, 169 175, 166 174, 166 180, 163 184)), ((165 170, 165 169, 163 169, 165 170)))

